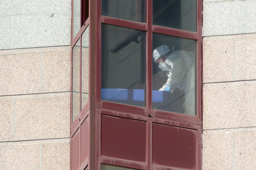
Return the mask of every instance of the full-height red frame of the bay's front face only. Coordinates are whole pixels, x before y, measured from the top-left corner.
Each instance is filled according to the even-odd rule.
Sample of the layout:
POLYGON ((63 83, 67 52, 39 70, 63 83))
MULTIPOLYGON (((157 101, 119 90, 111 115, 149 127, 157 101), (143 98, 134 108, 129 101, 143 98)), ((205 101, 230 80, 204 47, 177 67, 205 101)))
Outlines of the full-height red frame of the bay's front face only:
MULTIPOLYGON (((169 169, 168 167, 152 164, 152 123, 160 123, 177 127, 197 130, 197 160, 196 169, 201 169, 201 125, 202 125, 202 1, 197 0, 197 32, 188 32, 152 25, 152 1, 147 1, 146 23, 132 22, 101 15, 101 0, 96 1, 96 78, 95 81, 95 168, 101 164, 124 166, 136 169, 156 170, 169 169), (137 107, 101 100, 101 25, 111 24, 126 28, 146 31, 146 107, 137 107), (197 116, 183 115, 168 111, 152 109, 152 34, 159 33, 181 38, 197 40, 197 116), (101 156, 101 115, 144 120, 147 122, 147 155, 146 162, 134 162, 101 156), (150 114, 150 117, 148 117, 150 114)), ((175 168, 173 168, 175 169, 175 168)))

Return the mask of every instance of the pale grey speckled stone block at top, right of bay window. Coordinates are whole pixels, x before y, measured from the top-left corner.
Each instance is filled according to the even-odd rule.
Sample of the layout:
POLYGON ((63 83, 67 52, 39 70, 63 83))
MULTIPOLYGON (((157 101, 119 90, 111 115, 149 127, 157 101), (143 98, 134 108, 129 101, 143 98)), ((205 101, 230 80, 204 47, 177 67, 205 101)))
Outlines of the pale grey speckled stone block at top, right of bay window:
POLYGON ((255 0, 204 0, 203 36, 256 32, 255 0))

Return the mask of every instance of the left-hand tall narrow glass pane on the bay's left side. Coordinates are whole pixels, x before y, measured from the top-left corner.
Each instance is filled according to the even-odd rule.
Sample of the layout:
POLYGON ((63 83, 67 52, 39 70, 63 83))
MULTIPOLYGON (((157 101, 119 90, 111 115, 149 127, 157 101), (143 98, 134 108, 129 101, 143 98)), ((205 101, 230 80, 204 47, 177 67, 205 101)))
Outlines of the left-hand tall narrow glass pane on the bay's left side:
MULTIPOLYGON (((80 40, 78 40, 79 42, 80 40)), ((80 47, 78 42, 73 47, 73 99, 72 99, 72 122, 79 115, 79 75, 80 75, 80 47)))

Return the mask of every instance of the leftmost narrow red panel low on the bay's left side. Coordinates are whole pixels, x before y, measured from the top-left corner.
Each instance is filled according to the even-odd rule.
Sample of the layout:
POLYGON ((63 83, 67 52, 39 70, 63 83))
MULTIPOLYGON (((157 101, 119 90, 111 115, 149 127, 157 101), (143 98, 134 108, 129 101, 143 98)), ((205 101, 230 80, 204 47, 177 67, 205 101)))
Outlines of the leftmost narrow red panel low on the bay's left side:
POLYGON ((79 169, 79 140, 80 140, 80 129, 71 137, 71 169, 79 169))

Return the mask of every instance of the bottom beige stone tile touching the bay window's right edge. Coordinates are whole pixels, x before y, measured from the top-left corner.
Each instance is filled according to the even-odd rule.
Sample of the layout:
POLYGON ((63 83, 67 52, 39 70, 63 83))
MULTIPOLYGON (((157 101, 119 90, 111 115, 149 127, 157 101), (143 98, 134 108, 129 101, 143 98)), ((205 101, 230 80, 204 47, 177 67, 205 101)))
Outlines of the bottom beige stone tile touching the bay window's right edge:
POLYGON ((203 134, 203 170, 231 170, 233 168, 233 136, 234 134, 203 134))

